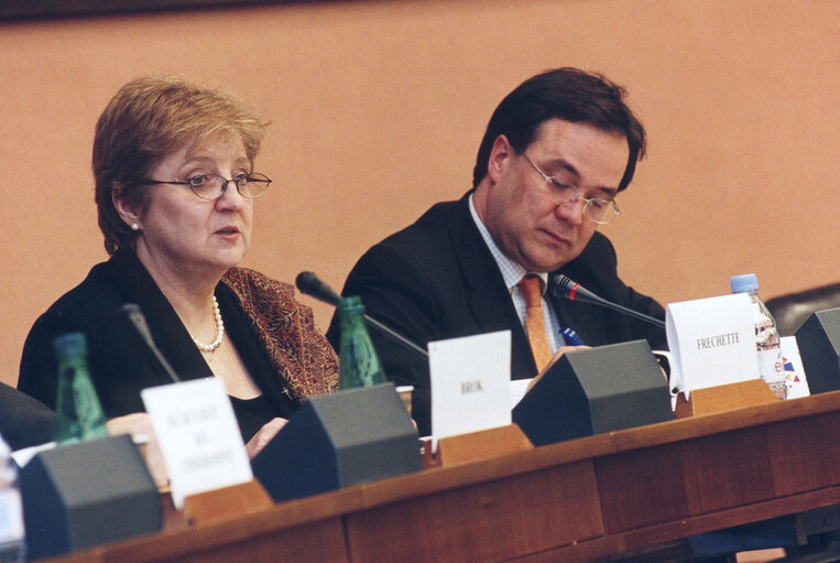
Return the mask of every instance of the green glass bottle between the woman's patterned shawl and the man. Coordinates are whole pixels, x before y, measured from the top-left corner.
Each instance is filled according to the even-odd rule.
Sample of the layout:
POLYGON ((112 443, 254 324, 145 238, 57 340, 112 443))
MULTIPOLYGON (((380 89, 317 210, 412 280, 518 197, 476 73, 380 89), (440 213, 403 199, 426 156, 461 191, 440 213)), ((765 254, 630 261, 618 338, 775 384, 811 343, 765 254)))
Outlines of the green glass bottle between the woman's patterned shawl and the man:
POLYGON ((338 302, 341 325, 338 388, 370 387, 385 382, 385 371, 364 327, 361 297, 341 297, 338 302))

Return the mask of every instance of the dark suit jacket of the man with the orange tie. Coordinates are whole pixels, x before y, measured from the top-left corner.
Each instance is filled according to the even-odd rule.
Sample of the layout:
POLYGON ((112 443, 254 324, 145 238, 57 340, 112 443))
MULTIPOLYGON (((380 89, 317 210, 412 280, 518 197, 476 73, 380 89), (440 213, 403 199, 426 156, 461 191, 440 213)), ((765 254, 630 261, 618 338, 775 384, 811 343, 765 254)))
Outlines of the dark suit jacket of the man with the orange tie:
MULTIPOLYGON (((429 340, 510 329, 511 377, 531 378, 536 366, 499 267, 469 212, 468 195, 439 203, 415 224, 372 247, 353 267, 342 290, 359 295, 368 314, 421 347, 429 340)), ((626 286, 618 277, 615 250, 596 232, 564 273, 600 296, 664 318, 662 306, 626 286)), ((574 328, 590 346, 646 338, 665 347, 665 332, 648 323, 586 303, 552 299, 561 326, 574 328)), ((338 318, 327 338, 338 349, 338 318)), ((413 415, 422 434, 430 431, 428 362, 371 331, 385 375, 415 387, 413 415)))

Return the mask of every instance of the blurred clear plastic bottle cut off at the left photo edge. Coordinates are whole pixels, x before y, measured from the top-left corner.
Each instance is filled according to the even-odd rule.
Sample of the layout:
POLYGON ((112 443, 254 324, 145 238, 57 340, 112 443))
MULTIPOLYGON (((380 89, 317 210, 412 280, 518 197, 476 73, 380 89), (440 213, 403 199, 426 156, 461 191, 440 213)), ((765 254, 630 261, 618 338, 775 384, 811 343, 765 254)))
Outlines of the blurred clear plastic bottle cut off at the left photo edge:
POLYGON ((9 444, 0 436, 0 563, 21 563, 25 560, 26 532, 18 466, 9 444))

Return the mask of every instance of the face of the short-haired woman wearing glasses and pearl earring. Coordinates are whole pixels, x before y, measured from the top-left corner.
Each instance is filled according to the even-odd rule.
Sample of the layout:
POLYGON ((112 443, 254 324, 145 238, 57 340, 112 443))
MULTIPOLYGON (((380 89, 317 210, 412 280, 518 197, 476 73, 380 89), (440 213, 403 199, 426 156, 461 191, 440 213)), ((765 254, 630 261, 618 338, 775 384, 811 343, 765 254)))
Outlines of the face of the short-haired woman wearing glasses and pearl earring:
MULTIPOLYGON (((232 178, 250 172, 242 141, 236 136, 217 134, 173 151, 149 178, 182 182, 201 174, 232 178)), ((229 183, 214 201, 201 199, 189 186, 179 184, 150 185, 146 190, 152 192, 139 217, 135 251, 153 275, 211 280, 246 256, 251 242, 253 199, 242 197, 234 183, 229 183)))

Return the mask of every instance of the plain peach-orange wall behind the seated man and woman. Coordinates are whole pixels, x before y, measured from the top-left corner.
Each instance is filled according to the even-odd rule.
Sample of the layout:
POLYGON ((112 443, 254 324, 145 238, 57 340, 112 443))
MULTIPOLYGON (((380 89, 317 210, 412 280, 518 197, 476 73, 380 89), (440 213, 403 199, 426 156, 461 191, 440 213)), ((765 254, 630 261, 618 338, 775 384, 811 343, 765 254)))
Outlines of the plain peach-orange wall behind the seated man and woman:
MULTIPOLYGON (((337 289, 373 242, 470 185, 495 105, 555 66, 624 84, 648 158, 604 228, 664 303, 755 272, 840 281, 836 0, 393 0, 0 23, 0 380, 36 316, 106 258, 94 123, 141 74, 237 91, 273 122, 246 266, 337 289)), ((312 304, 326 328, 331 311, 312 304)))

